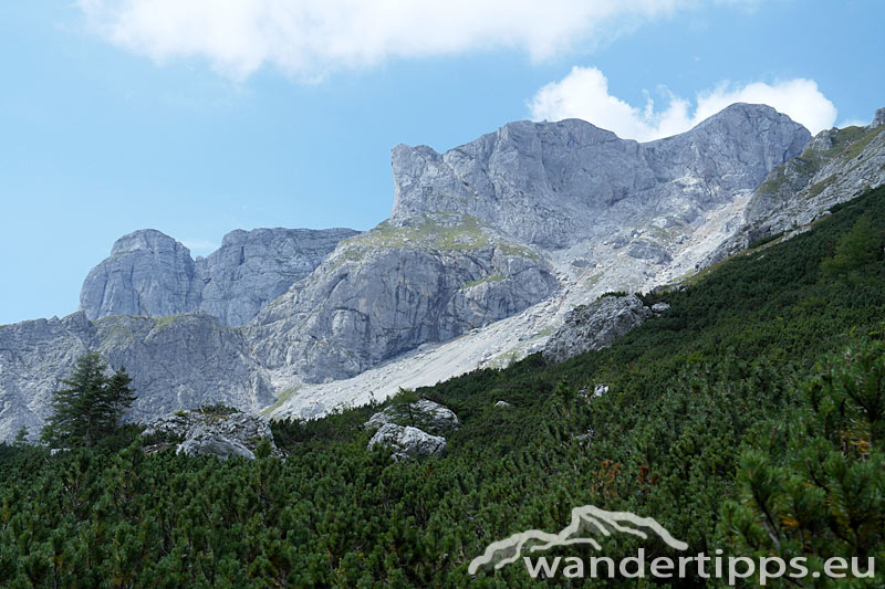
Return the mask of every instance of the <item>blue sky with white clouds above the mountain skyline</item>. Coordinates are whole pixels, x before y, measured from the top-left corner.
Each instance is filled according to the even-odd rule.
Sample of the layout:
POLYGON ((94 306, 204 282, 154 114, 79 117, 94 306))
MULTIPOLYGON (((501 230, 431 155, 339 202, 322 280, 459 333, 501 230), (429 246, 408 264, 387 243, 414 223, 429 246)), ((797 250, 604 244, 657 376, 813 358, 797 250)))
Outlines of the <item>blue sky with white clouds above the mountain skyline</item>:
POLYGON ((885 106, 883 2, 624 4, 2 3, 0 324, 74 312, 136 229, 195 255, 238 228, 369 229, 398 143, 564 116, 648 139, 733 98, 819 128, 885 106))

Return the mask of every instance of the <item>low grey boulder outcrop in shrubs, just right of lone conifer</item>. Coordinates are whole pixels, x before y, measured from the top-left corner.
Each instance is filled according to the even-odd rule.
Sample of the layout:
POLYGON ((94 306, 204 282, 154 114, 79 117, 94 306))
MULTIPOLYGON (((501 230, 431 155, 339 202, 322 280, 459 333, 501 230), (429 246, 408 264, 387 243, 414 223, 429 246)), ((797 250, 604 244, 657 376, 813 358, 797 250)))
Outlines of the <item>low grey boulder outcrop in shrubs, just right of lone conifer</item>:
POLYGON ((254 460, 254 450, 267 440, 273 453, 273 433, 267 418, 228 411, 181 411, 154 421, 143 432, 147 438, 178 441, 176 451, 187 455, 209 454, 220 459, 254 460))

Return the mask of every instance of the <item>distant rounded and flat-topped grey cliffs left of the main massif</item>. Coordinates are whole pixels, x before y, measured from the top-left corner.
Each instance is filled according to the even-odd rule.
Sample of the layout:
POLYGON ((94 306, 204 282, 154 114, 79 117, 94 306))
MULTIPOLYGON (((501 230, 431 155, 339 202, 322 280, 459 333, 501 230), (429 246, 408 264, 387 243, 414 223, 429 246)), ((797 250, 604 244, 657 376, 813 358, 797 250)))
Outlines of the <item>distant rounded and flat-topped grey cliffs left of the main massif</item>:
POLYGON ((195 262, 173 238, 148 229, 116 241, 90 272, 80 308, 90 319, 111 315, 164 317, 204 309, 239 326, 313 271, 350 229, 232 231, 221 248, 195 262))

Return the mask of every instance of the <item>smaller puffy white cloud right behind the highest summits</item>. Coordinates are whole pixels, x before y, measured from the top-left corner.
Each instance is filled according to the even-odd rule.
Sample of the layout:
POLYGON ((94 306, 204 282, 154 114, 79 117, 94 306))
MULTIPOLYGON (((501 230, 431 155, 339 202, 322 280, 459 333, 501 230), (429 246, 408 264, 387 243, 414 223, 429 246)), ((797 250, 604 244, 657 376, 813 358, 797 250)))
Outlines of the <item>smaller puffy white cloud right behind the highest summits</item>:
MULTIPOLYGON (((666 92, 666 91, 665 91, 666 92)), ((811 133, 833 126, 836 108, 812 80, 736 86, 722 82, 697 94, 694 103, 668 94, 669 104, 655 109, 650 97, 639 108, 608 93, 608 80, 595 67, 572 67, 559 82, 543 86, 530 101, 535 120, 583 118, 618 136, 648 141, 686 132, 733 103, 767 104, 801 123, 811 133)))

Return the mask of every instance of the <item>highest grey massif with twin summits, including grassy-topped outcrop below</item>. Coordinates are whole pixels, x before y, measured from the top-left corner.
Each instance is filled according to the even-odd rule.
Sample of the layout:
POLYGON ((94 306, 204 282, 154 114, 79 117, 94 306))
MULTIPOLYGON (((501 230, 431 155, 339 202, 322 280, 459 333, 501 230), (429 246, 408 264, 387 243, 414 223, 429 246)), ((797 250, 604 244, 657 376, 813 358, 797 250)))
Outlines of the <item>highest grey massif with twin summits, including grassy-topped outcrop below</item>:
POLYGON ((391 219, 342 241, 247 337, 299 387, 512 316, 581 282, 569 276, 579 266, 627 257, 616 264, 627 283, 657 275, 711 211, 809 137, 768 106, 737 104, 650 144, 572 119, 511 123, 442 155, 397 146, 391 219))

